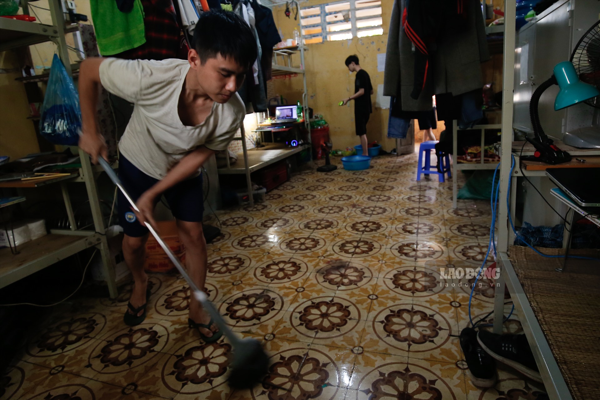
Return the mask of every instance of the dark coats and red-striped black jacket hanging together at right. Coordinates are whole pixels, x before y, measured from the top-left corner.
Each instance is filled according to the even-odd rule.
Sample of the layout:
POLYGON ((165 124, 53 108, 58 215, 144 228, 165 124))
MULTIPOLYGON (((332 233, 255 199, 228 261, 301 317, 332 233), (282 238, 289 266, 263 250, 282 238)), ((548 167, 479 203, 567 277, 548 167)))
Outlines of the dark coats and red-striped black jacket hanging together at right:
POLYGON ((490 59, 481 4, 395 1, 386 51, 384 95, 400 97, 403 110, 431 110, 432 95, 481 89, 481 62, 490 59))

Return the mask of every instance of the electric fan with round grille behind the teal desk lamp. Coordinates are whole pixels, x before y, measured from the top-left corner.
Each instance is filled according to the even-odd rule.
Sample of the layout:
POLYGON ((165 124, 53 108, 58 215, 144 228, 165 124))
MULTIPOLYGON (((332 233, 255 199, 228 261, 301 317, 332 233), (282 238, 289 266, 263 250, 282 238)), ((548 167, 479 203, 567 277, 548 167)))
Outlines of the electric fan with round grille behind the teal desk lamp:
MULTIPOLYGON (((600 20, 581 37, 571 54, 571 62, 581 82, 589 83, 600 89, 600 20)), ((600 96, 584 101, 595 107, 590 127, 579 128, 565 133, 563 142, 578 148, 600 148, 600 96)))

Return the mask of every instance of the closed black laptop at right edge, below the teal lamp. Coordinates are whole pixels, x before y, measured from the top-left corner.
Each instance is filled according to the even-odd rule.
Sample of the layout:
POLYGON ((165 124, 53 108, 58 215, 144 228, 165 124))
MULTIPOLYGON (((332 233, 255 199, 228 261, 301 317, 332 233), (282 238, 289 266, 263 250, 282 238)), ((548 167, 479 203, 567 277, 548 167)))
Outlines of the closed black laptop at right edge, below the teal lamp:
POLYGON ((600 207, 600 168, 548 168, 546 175, 580 206, 600 207))

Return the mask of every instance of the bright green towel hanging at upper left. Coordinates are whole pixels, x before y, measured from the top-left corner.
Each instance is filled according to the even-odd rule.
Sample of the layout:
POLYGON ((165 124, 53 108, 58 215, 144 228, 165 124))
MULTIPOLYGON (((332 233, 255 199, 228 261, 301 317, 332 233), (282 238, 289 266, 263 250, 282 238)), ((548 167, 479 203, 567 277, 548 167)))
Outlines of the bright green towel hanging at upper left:
POLYGON ((128 13, 119 11, 116 1, 90 0, 89 5, 101 55, 121 53, 146 42, 140 0, 134 1, 128 13))

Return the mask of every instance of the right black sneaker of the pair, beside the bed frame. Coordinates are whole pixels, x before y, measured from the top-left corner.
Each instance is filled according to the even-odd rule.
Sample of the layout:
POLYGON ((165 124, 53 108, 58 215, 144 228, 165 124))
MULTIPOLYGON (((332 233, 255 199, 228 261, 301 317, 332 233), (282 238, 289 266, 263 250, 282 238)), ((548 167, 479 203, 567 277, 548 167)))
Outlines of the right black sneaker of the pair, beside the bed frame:
POLYGON ((524 334, 496 335, 496 333, 480 330, 477 341, 496 360, 512 366, 526 377, 542 383, 542 375, 539 374, 538 365, 535 363, 524 334))

